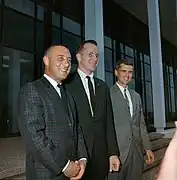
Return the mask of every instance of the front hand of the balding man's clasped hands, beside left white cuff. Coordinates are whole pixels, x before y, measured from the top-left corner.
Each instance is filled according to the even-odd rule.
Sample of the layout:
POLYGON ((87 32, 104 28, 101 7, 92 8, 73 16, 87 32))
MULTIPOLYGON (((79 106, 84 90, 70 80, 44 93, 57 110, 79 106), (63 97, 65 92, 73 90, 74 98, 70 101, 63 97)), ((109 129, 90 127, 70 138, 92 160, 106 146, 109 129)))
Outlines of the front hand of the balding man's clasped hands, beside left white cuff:
POLYGON ((66 170, 63 172, 66 177, 72 178, 77 176, 77 174, 80 171, 80 165, 78 161, 71 161, 66 168, 66 170))

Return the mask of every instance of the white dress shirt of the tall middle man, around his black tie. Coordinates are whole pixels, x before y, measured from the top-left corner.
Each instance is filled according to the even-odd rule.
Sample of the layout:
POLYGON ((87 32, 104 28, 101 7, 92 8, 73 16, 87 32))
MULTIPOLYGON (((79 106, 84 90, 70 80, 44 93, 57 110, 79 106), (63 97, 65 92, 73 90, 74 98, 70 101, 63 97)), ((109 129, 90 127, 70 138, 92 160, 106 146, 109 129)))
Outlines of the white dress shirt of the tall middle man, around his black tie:
MULTIPOLYGON (((82 72, 79 68, 78 68, 77 72, 78 72, 79 76, 81 77, 82 84, 83 84, 85 92, 87 94, 87 98, 88 98, 88 101, 89 101, 91 113, 92 113, 92 116, 93 116, 93 109, 92 109, 92 104, 91 104, 91 100, 90 100, 90 91, 89 91, 89 87, 88 87, 88 79, 86 78, 87 75, 84 72, 82 72)), ((94 90, 94 94, 95 94, 95 83, 94 83, 93 73, 91 75, 89 75, 89 76, 90 76, 90 80, 92 82, 93 90, 94 90)))

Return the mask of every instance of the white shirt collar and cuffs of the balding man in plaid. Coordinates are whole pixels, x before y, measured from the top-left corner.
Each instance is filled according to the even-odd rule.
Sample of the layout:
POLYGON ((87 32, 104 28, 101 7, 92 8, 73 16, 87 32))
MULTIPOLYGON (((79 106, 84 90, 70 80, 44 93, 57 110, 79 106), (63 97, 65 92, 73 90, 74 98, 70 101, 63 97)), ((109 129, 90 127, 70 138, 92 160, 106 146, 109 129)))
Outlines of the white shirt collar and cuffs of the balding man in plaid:
MULTIPOLYGON (((44 77, 50 82, 50 84, 55 88, 55 90, 57 91, 58 95, 61 97, 61 92, 60 92, 60 88, 58 87, 58 83, 52 79, 50 76, 48 76, 47 74, 44 74, 44 77)), ((85 160, 87 161, 86 158, 81 158, 80 160, 85 160)), ((69 166, 70 160, 68 160, 67 164, 65 165, 65 167, 63 168, 62 172, 64 172, 67 167, 69 166)))

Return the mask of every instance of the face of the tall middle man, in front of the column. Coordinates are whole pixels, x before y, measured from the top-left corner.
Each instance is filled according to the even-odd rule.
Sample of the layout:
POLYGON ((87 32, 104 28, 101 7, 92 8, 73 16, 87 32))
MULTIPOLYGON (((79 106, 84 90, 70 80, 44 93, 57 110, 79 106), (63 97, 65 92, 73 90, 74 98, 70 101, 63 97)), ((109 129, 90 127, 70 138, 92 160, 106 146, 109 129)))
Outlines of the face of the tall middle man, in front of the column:
POLYGON ((79 68, 87 74, 95 71, 98 64, 98 48, 94 44, 84 44, 83 50, 77 54, 79 68))

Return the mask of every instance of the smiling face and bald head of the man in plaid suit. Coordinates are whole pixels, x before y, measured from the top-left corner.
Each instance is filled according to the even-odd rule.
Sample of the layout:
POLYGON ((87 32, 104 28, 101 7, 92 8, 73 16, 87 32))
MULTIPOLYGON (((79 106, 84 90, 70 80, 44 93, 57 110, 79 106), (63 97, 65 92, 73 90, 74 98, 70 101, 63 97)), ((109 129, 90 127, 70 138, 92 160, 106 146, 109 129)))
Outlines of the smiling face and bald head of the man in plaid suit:
POLYGON ((66 79, 71 69, 71 54, 64 46, 54 46, 44 56, 45 73, 57 82, 66 79))

